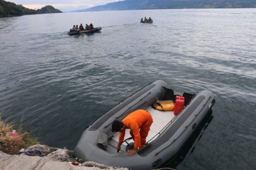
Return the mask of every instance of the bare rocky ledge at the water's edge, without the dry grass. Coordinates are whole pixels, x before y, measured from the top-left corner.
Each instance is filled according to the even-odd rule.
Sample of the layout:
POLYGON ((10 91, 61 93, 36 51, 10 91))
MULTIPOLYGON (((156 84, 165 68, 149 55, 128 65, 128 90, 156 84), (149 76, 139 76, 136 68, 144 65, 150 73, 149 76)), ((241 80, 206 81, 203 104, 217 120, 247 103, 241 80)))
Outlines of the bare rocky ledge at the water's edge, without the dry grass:
POLYGON ((10 155, 0 151, 0 170, 128 170, 92 161, 80 163, 70 158, 69 150, 37 144, 10 155), (32 151, 40 152, 32 152, 32 151), (30 151, 30 152, 29 152, 30 151), (38 154, 40 153, 40 154, 38 154))

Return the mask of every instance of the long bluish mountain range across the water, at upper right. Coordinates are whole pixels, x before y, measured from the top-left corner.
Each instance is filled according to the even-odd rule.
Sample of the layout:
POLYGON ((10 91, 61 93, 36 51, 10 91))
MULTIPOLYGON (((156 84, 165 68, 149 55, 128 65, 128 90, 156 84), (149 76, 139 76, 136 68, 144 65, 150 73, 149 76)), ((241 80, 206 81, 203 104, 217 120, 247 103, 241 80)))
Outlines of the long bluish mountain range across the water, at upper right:
POLYGON ((256 0, 124 0, 76 12, 180 8, 256 8, 256 0))

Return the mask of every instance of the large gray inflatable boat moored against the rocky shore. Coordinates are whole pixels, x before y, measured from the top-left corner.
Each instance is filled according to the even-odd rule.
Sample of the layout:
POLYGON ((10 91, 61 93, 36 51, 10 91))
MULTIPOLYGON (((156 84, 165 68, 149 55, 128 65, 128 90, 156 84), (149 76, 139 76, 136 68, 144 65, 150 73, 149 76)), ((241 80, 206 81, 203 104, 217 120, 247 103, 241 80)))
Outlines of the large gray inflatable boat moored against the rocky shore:
POLYGON ((210 91, 179 93, 167 88, 166 82, 157 80, 119 102, 84 130, 75 147, 74 156, 83 162, 95 161, 132 170, 162 167, 175 158, 214 103, 215 95, 210 91), (174 111, 160 111, 152 107, 159 100, 175 102, 177 96, 184 97, 184 107, 177 115, 174 111), (111 131, 112 122, 116 119, 121 121, 137 109, 147 110, 154 121, 147 142, 137 153, 128 156, 126 149, 131 147, 133 140, 127 129, 125 141, 117 153, 119 133, 111 131))

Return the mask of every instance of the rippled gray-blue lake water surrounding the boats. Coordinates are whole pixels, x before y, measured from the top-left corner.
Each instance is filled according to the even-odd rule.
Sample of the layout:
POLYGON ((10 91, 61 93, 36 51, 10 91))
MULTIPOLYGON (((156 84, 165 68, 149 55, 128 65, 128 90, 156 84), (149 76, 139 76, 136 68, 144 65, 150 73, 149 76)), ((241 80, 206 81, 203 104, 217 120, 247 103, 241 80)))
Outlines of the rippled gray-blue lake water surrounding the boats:
POLYGON ((42 143, 73 150, 86 126, 157 79, 216 95, 175 169, 256 167, 256 8, 0 18, 0 116, 42 143), (80 23, 102 31, 68 36, 80 23))

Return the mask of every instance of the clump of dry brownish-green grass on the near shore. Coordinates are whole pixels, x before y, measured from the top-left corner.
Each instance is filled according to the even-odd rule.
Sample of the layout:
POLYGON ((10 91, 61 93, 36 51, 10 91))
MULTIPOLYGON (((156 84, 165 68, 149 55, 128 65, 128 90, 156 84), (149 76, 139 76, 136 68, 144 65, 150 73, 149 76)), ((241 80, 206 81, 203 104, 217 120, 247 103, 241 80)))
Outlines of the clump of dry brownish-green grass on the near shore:
POLYGON ((0 150, 8 154, 17 154, 21 148, 27 148, 37 144, 37 139, 33 138, 29 132, 20 126, 17 136, 10 136, 14 130, 14 124, 6 123, 0 118, 0 150))

